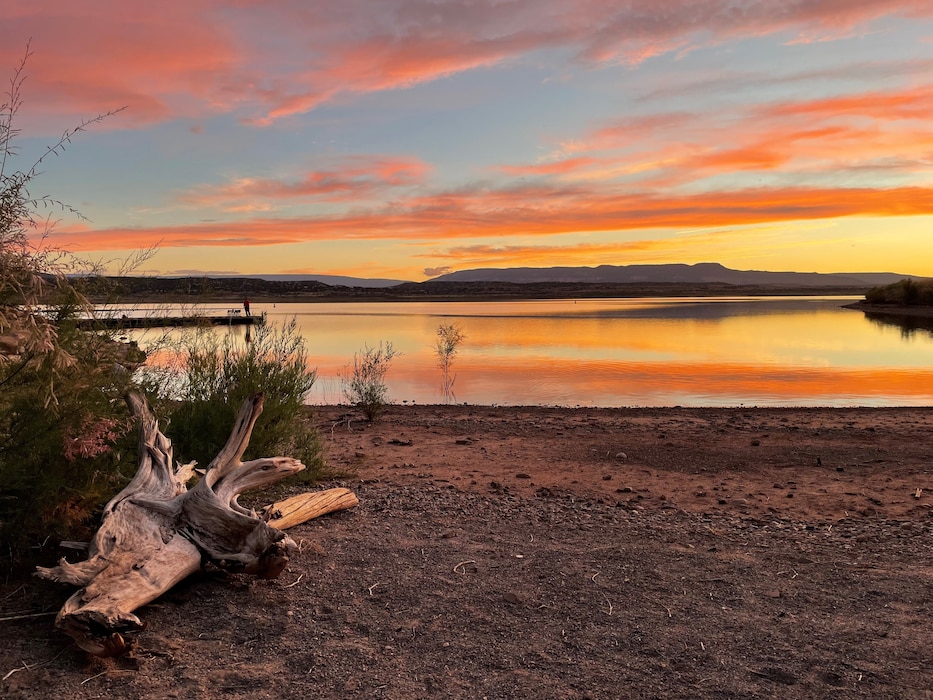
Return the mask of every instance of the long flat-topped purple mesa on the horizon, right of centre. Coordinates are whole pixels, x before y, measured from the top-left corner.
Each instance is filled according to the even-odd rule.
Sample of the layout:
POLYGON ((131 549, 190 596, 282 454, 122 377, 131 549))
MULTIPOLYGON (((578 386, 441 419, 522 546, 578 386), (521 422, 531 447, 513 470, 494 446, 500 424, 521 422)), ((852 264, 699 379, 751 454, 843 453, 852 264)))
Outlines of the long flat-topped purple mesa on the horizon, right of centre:
POLYGON ((511 282, 513 284, 729 284, 774 287, 873 287, 912 275, 893 272, 822 273, 732 270, 719 263, 695 265, 600 265, 598 267, 511 267, 462 270, 431 282, 511 282))

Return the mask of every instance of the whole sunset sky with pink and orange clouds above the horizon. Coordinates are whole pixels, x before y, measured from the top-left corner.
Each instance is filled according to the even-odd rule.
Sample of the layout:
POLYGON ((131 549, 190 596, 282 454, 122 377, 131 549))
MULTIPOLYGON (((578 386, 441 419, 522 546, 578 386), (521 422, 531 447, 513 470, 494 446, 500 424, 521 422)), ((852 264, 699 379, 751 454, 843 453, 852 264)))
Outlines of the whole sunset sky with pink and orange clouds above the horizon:
POLYGON ((929 0, 0 0, 27 51, 7 172, 107 115, 30 192, 111 271, 933 276, 929 0))

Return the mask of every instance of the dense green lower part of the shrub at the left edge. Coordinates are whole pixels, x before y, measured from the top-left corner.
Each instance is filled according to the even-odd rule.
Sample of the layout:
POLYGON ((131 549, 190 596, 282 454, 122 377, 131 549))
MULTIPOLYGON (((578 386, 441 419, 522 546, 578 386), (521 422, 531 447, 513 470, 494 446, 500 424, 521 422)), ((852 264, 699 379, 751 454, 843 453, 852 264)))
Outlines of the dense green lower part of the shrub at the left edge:
POLYGON ((0 545, 13 563, 47 539, 87 537, 135 471, 131 348, 56 320, 54 352, 0 363, 0 545))

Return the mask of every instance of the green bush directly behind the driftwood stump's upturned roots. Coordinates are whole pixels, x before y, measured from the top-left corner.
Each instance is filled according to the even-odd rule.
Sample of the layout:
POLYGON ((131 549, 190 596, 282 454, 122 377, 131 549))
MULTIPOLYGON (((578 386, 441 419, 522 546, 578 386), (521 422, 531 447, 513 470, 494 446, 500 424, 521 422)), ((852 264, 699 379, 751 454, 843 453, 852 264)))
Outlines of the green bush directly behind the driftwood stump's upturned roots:
POLYGON ((246 459, 287 455, 304 462, 304 480, 326 475, 320 436, 305 397, 316 379, 294 319, 281 327, 254 326, 249 342, 195 329, 169 353, 174 364, 147 367, 140 381, 163 418, 175 454, 206 467, 230 436, 243 402, 263 392, 246 459))

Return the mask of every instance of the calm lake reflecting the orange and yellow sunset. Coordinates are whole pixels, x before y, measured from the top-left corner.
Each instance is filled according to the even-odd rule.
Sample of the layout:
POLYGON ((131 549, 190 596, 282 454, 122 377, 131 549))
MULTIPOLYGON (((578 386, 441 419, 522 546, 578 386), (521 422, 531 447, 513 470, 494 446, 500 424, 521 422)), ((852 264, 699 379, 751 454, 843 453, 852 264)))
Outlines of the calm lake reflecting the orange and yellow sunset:
MULTIPOLYGON (((401 353, 396 403, 444 403, 437 327, 466 335, 453 400, 550 406, 933 405, 933 333, 843 309, 855 298, 651 298, 253 304, 295 317, 318 380, 309 403, 342 403, 340 372, 364 346, 401 353)), ((180 307, 169 307, 178 310, 180 307)), ((223 315, 226 306, 203 305, 223 315)), ((143 308, 129 311, 146 313, 143 308)), ((166 313, 166 307, 159 307, 166 313)), ((243 339, 244 329, 234 333, 243 339)), ((145 347, 153 332, 137 334, 145 347)))

